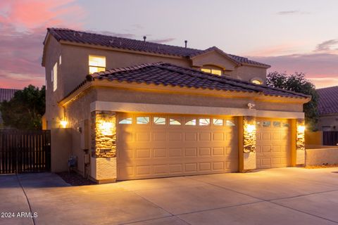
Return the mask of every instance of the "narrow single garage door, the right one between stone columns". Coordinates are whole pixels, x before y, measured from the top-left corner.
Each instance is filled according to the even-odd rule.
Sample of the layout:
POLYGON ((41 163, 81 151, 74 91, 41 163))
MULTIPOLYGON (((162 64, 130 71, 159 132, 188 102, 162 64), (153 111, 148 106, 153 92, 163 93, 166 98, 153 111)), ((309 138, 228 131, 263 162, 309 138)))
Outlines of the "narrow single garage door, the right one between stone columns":
POLYGON ((291 163, 289 121, 258 118, 256 125, 257 168, 288 167, 291 163))

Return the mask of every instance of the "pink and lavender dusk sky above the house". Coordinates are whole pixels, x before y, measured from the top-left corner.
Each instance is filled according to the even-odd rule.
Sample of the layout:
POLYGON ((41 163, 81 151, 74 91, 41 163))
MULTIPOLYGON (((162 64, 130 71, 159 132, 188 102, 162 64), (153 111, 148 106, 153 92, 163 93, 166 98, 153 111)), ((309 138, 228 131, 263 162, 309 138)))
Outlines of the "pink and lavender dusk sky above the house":
POLYGON ((247 56, 269 71, 338 85, 338 1, 0 0, 0 88, 44 84, 46 27, 247 56))

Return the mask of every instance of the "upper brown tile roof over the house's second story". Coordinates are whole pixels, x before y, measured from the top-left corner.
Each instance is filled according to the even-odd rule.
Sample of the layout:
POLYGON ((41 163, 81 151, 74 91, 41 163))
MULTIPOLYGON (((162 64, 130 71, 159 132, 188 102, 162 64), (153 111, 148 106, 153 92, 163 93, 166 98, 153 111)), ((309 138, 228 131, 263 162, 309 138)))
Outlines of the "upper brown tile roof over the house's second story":
POLYGON ((193 58, 203 53, 217 50, 227 55, 230 59, 232 59, 237 64, 244 63, 244 64, 249 64, 249 65, 256 65, 256 66, 261 66, 265 68, 270 68, 270 65, 259 63, 253 60, 249 60, 249 58, 227 54, 215 46, 205 49, 205 50, 189 49, 189 48, 184 48, 180 46, 171 46, 168 44, 158 44, 158 43, 149 42, 149 41, 127 39, 123 37, 113 37, 109 35, 94 34, 90 32, 81 32, 81 31, 70 30, 70 29, 65 29, 65 28, 47 28, 47 30, 58 41, 63 40, 63 41, 81 43, 81 44, 94 44, 94 45, 107 46, 107 47, 118 48, 118 49, 144 51, 144 52, 149 52, 149 53, 159 53, 159 54, 170 55, 170 56, 182 56, 182 57, 187 57, 187 58, 193 58))

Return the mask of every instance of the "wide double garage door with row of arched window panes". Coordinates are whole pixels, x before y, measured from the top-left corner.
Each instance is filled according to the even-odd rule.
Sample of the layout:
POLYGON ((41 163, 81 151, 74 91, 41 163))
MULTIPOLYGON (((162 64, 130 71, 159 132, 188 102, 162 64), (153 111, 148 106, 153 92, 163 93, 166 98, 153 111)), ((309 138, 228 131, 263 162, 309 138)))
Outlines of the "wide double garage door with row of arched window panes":
POLYGON ((117 115, 118 179, 238 170, 231 117, 117 115))

